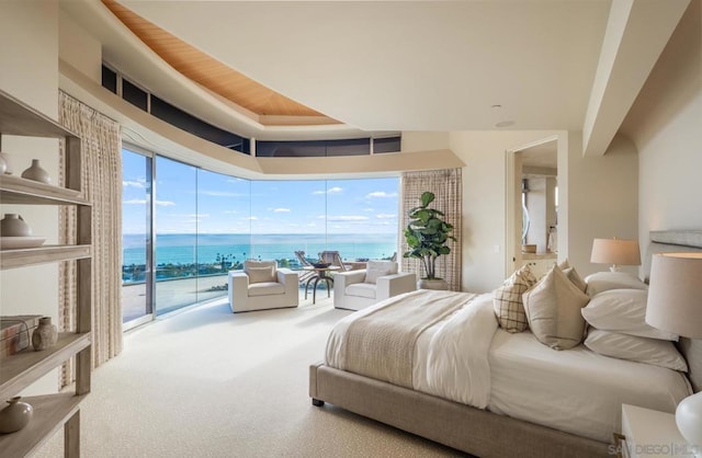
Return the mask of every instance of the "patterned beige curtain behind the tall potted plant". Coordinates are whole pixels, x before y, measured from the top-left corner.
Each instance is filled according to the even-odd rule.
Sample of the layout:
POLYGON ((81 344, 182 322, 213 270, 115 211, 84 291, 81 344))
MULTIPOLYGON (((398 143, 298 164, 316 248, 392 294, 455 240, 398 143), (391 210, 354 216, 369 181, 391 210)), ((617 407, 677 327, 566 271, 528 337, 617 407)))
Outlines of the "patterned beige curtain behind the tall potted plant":
MULTIPOLYGON (((410 208, 421 205, 421 194, 424 191, 434 193, 435 201, 430 205, 444 213, 446 222, 453 225, 452 234, 457 242, 449 241, 451 253, 437 259, 437 276, 449 283, 449 289, 461 290, 461 211, 463 193, 461 169, 430 170, 422 172, 405 172, 401 178, 403 198, 400 203, 400 251, 409 250, 405 241, 405 228, 409 221, 407 213, 410 208)), ((419 260, 401 257, 403 272, 415 272, 417 277, 423 275, 419 260)))

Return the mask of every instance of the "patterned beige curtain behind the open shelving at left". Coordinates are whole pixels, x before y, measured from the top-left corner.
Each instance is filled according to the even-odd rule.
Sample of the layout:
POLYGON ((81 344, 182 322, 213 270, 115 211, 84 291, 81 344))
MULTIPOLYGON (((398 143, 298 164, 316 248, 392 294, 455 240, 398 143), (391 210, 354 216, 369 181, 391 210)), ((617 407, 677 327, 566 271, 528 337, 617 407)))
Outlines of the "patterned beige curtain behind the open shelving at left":
MULTIPOLYGON (((120 124, 59 92, 59 122, 81 137, 81 195, 92 204, 92 367, 122 351, 122 139, 120 124)), ((61 176, 66 161, 61 141, 61 176)), ((76 207, 59 211, 59 242, 75 243, 76 207)), ((59 328, 76 329, 76 262, 59 268, 59 328)), ((66 365, 60 385, 72 382, 66 365)))

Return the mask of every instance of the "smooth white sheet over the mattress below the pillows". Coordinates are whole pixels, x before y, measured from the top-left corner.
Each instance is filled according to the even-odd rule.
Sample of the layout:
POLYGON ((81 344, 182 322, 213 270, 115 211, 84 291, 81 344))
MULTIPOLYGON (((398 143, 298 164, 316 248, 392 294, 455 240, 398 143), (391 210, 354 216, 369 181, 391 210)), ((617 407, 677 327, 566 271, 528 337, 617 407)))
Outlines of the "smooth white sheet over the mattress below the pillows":
POLYGON ((554 351, 526 331, 495 333, 488 410, 601 442, 620 431, 622 403, 675 412, 692 393, 681 373, 598 355, 554 351))

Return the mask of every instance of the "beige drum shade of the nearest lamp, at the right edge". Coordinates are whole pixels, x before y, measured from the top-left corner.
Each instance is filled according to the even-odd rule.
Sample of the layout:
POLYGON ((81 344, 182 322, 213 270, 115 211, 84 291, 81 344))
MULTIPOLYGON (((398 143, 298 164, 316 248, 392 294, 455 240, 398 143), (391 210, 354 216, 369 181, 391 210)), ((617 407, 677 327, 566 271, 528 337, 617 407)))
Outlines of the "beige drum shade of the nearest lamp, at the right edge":
POLYGON ((678 335, 702 339, 702 253, 653 256, 646 322, 678 335))

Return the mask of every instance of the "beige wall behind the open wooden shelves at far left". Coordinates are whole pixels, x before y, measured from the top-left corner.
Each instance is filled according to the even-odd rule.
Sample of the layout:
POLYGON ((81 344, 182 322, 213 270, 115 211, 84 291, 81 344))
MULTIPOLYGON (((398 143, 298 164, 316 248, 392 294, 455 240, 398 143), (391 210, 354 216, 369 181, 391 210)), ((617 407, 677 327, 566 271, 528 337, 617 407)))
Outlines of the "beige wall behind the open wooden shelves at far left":
MULTIPOLYGON (((0 3, 0 88, 36 110, 56 118, 58 113, 58 3, 5 1, 0 3)), ((58 141, 14 136, 2 137, 15 175, 32 159, 56 182, 58 141)), ((2 213, 19 213, 34 236, 58 237, 57 209, 45 206, 3 205, 2 213)), ((55 264, 0 272, 0 314, 42 314, 58 318, 58 267, 55 264)), ((56 371, 34 383, 25 393, 56 391, 56 371)))

